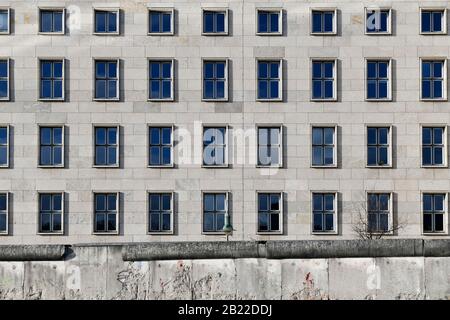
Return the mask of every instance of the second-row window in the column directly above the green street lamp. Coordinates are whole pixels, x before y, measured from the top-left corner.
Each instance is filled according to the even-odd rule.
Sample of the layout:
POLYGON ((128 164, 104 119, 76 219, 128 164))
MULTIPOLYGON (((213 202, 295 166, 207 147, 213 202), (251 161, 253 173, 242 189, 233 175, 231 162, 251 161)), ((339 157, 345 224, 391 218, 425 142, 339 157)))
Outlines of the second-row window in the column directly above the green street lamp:
POLYGON ((228 63, 203 61, 203 100, 228 99, 228 63))

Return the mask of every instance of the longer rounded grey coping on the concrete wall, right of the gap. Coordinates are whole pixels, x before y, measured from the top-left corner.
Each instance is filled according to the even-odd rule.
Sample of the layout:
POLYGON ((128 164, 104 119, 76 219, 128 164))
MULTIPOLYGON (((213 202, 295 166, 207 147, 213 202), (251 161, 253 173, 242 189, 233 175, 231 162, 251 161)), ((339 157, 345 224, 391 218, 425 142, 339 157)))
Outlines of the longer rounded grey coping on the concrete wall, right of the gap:
POLYGON ((450 239, 199 241, 126 244, 122 247, 122 257, 125 261, 448 256, 450 256, 450 239))

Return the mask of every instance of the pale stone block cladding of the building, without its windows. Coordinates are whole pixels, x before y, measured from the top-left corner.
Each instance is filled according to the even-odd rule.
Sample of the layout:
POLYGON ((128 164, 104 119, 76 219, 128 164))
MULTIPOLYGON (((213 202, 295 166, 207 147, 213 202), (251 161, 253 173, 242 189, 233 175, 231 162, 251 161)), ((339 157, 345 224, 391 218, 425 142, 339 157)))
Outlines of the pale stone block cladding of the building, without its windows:
MULTIPOLYGON (((224 240, 203 235, 201 192, 230 192, 233 240, 348 239, 356 235, 354 204, 366 191, 394 194, 394 220, 406 220, 397 237, 422 237, 421 192, 450 191, 448 168, 421 168, 420 125, 450 121, 448 102, 419 99, 420 58, 450 54, 449 35, 419 35, 419 8, 450 8, 450 1, 380 1, 393 9, 393 34, 364 34, 364 7, 373 1, 172 0, 175 35, 147 35, 148 5, 119 1, 2 1, 10 7, 11 34, 0 35, 0 57, 11 59, 11 101, 0 102, 0 123, 11 131, 10 168, 0 169, 0 190, 10 194, 9 235, 2 244, 224 240), (121 9, 121 34, 92 34, 93 7, 121 9), (67 9, 65 35, 38 34, 38 7, 67 9), (202 7, 230 9, 229 36, 202 36, 202 7), (258 36, 256 8, 283 9, 284 34, 258 36), (310 8, 336 7, 338 34, 310 35, 310 8), (72 19, 72 20, 71 20, 72 19), (75 20, 74 20, 75 19, 75 20), (78 19, 78 20, 77 20, 78 19), (77 23, 80 28, 78 29, 77 23), (72 24, 75 27, 72 27, 72 24), (38 59, 66 59, 66 101, 38 101, 38 59), (93 101, 93 59, 121 59, 121 101, 93 101), (229 102, 202 102, 202 58, 228 58, 229 102), (338 59, 338 101, 310 101, 310 59, 338 59), (393 101, 365 101, 365 58, 393 59, 393 101), (173 58, 175 101, 147 101, 148 59, 173 58), (256 101, 256 59, 284 61, 284 101, 256 101), (181 164, 175 133, 175 167, 147 168, 147 126, 170 124, 194 133, 195 125, 230 130, 257 124, 284 126, 284 167, 254 164, 202 168, 181 164), (65 168, 38 168, 38 125, 65 125, 65 168), (93 124, 121 127, 121 165, 92 167, 93 124), (338 167, 311 168, 311 124, 338 126, 338 167), (366 168, 365 126, 392 125, 393 167, 366 168), (65 192, 65 232, 37 235, 38 192, 65 192), (121 192, 120 233, 92 234, 93 191, 121 192), (147 235, 147 191, 175 193, 173 235, 147 235), (282 235, 257 235, 256 192, 284 192, 282 235), (339 194, 339 234, 311 234, 311 191, 339 194)), ((201 145, 201 137, 192 137, 201 145)), ((197 146, 198 147, 198 146, 197 146)), ((232 145, 232 157, 242 145, 232 145)), ((423 236, 425 237, 425 236, 423 236)))

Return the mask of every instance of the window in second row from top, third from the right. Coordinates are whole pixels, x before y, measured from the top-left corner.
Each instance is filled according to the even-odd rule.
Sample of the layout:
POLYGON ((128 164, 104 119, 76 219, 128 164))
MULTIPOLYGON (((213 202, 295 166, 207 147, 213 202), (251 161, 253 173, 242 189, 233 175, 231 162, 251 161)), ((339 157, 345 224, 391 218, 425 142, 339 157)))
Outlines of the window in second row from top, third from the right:
POLYGON ((336 61, 312 61, 312 100, 336 100, 336 61))

